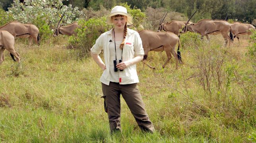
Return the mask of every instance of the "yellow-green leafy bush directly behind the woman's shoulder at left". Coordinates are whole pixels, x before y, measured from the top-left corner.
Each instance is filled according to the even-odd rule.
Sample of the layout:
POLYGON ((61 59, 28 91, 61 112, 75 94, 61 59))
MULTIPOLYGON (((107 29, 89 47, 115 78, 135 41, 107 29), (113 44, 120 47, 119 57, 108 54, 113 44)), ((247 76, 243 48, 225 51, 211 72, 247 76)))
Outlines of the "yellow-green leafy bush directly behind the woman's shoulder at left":
POLYGON ((89 51, 97 38, 112 28, 106 23, 106 17, 92 18, 88 21, 80 19, 78 25, 80 28, 76 29, 77 36, 70 36, 68 47, 79 49, 82 57, 89 56, 89 51))

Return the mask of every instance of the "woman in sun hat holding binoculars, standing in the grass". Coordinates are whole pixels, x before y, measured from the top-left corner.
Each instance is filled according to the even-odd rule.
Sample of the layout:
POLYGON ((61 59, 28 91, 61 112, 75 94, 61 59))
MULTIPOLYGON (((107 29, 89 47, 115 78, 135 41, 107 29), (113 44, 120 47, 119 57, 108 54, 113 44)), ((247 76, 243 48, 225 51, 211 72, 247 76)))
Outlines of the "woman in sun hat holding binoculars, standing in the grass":
POLYGON ((132 24, 132 16, 127 13, 126 8, 115 6, 107 16, 107 23, 114 24, 114 28, 99 36, 91 48, 91 56, 104 70, 100 81, 111 133, 121 130, 120 94, 139 127, 153 132, 154 126, 145 111, 137 86, 139 79, 136 63, 142 60, 144 50, 138 32, 127 28, 127 25, 132 24), (105 64, 99 56, 101 50, 104 50, 105 64))

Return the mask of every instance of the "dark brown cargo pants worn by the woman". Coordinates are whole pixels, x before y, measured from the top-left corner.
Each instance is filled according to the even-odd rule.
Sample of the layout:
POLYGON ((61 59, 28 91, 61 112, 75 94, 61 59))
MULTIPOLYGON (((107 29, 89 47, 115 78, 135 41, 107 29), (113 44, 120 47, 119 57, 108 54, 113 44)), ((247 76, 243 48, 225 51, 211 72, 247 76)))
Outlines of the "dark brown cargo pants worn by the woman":
POLYGON ((137 83, 120 85, 119 83, 110 82, 109 85, 105 85, 104 83, 101 83, 101 85, 104 107, 105 111, 108 113, 111 133, 116 130, 121 130, 120 94, 122 94, 140 129, 146 132, 154 132, 154 126, 145 111, 145 105, 142 101, 137 83))

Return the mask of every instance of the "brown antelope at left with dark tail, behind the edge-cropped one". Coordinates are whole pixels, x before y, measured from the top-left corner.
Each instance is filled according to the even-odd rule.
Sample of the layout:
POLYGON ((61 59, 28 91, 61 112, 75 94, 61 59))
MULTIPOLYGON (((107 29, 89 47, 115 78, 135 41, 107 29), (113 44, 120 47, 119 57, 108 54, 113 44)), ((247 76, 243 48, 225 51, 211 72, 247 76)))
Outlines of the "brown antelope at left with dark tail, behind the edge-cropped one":
POLYGON ((32 39, 39 45, 39 30, 33 24, 23 24, 13 21, 0 27, 0 30, 10 32, 14 37, 29 38, 29 45, 32 45, 32 39))

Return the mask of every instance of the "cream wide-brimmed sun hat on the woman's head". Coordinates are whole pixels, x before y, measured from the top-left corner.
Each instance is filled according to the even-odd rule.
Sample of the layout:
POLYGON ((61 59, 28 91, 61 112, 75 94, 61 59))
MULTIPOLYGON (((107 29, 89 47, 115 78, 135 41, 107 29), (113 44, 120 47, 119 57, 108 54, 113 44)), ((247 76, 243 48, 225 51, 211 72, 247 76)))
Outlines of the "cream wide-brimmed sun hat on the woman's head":
POLYGON ((114 15, 124 15, 127 17, 127 25, 132 24, 132 16, 127 13, 127 9, 122 7, 122 6, 115 6, 112 10, 111 13, 107 16, 107 24, 113 24, 111 17, 114 15))

